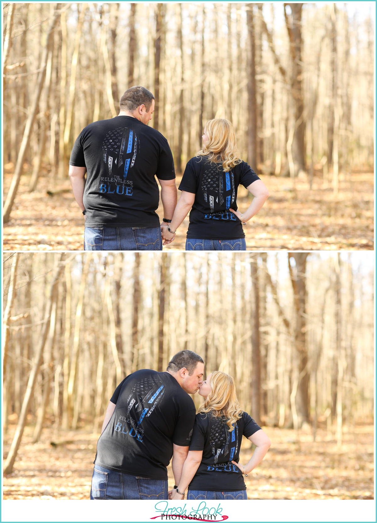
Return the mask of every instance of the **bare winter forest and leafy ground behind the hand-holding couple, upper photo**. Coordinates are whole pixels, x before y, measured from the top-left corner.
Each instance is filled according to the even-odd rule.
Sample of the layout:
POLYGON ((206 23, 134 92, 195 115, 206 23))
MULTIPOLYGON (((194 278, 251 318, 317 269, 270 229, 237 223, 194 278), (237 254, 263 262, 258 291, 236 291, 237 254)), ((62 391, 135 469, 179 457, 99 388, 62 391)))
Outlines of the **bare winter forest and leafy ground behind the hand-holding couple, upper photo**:
POLYGON ((3 3, 5 250, 82 249, 72 145, 137 84, 178 175, 205 122, 232 120, 271 194, 248 249, 373 249, 374 15, 368 2, 3 3))

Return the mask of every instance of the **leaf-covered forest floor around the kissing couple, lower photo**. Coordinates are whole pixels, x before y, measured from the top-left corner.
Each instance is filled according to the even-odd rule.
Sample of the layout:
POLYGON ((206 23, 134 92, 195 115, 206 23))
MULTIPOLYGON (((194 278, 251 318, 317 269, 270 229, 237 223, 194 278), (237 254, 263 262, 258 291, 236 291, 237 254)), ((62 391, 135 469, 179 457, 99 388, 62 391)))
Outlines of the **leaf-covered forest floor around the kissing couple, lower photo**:
MULTIPOLYGON (((15 425, 4 438, 5 456, 15 425)), ((327 439, 318 429, 313 442, 310 428, 300 430, 299 442, 290 429, 264 427, 272 445, 265 459, 245 478, 248 499, 373 499, 373 425, 345 428, 343 444, 327 439)), ((4 477, 4 499, 88 499, 98 434, 89 429, 63 431, 52 447, 52 428, 44 428, 32 445, 33 427, 27 426, 12 474, 4 477), (71 441, 71 442, 70 442, 71 441)), ((252 449, 243 438, 240 462, 252 449)), ((169 488, 174 484, 168 468, 169 488)))

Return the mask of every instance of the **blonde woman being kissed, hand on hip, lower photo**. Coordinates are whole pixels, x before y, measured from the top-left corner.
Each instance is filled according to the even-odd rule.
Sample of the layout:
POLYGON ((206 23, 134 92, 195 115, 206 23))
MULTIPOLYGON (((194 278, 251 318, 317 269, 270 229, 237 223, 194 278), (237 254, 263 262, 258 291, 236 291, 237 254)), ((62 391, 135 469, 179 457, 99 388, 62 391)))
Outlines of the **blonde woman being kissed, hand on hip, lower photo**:
POLYGON ((247 499, 247 476, 265 457, 271 442, 267 434, 239 408, 234 379, 214 371, 203 381, 199 394, 205 402, 198 409, 189 452, 171 499, 247 499), (253 456, 241 465, 242 436, 254 445, 253 456))

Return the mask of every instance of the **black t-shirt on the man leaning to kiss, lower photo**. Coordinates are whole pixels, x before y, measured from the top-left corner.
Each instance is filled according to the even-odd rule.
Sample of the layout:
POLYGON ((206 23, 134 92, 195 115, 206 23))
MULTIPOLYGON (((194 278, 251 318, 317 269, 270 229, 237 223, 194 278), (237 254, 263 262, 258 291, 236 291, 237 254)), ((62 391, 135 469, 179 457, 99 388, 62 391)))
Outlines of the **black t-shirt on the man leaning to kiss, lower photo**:
POLYGON ((188 447, 195 422, 191 397, 168 372, 130 374, 110 400, 116 404, 97 443, 94 463, 153 480, 167 480, 173 443, 188 447))

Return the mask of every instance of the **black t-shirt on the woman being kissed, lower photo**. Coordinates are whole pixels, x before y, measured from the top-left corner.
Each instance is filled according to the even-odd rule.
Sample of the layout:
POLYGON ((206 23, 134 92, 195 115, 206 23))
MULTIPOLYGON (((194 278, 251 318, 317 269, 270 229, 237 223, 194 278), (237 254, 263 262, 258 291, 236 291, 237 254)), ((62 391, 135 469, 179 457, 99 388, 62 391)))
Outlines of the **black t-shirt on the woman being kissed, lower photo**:
POLYGON ((211 413, 197 414, 189 450, 202 450, 199 468, 189 485, 190 490, 235 492, 246 490, 242 472, 232 463, 239 461, 242 436, 248 438, 260 427, 246 412, 232 432, 226 420, 211 413))

